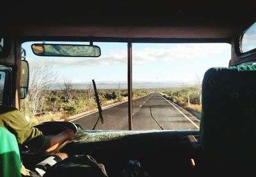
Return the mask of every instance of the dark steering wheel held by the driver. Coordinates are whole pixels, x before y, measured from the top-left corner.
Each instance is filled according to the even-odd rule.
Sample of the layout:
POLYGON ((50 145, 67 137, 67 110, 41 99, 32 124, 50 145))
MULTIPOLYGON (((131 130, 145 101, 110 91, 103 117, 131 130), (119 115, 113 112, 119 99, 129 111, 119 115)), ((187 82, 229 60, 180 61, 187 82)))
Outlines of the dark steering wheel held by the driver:
MULTIPOLYGON (((74 131, 74 133, 77 132, 77 125, 73 124, 72 122, 43 122, 41 124, 35 125, 35 128, 37 128, 38 130, 42 131, 42 133, 45 136, 54 136, 56 134, 59 134, 60 132, 63 132, 67 129, 71 129, 72 131, 74 131)), ((56 148, 55 150, 53 150, 52 152, 42 152, 42 151, 38 151, 38 150, 31 150, 28 148, 28 146, 22 146, 22 154, 25 156, 28 155, 40 155, 40 156, 45 156, 45 155, 51 155, 55 152, 58 152, 61 148, 63 148, 63 146, 67 145, 67 143, 69 143, 70 141, 65 141, 64 143, 62 143, 60 146, 58 146, 58 148, 56 148)))

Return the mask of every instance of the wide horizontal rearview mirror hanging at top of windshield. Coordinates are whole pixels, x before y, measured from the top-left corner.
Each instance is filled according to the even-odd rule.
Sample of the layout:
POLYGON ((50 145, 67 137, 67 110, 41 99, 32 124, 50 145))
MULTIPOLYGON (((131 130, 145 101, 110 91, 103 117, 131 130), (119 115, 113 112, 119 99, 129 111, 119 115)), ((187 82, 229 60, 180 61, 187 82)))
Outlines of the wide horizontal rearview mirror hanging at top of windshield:
POLYGON ((47 57, 99 57, 100 48, 96 45, 63 45, 63 44, 33 44, 33 53, 47 57))

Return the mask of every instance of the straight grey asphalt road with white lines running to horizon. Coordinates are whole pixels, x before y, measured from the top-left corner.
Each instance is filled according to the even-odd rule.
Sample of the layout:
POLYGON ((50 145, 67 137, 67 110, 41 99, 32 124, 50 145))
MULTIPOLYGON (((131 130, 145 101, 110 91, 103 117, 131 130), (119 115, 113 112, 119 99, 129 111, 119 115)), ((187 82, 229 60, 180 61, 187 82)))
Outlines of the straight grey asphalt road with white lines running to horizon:
MULTIPOLYGON (((200 120, 191 113, 168 101, 157 92, 135 99, 133 105, 133 130, 193 130, 199 129, 200 120)), ((128 130, 127 103, 102 110, 104 124, 100 120, 95 130, 128 130)), ((71 122, 92 130, 99 113, 90 113, 71 122)))

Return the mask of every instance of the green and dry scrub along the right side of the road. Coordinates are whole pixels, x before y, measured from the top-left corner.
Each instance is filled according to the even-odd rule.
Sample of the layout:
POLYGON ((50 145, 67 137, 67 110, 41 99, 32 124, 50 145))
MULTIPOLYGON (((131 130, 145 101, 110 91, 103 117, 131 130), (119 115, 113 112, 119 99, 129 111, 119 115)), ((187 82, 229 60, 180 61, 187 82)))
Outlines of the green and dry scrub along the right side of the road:
POLYGON ((163 88, 159 90, 165 97, 187 110, 202 111, 202 90, 200 85, 193 87, 163 88))

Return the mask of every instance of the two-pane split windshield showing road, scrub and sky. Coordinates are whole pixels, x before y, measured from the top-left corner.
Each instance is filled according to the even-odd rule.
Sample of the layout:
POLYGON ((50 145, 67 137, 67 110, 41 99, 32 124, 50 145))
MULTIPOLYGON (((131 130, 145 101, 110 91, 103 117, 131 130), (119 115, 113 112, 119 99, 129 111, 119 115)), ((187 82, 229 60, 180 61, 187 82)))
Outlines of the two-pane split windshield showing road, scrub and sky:
MULTIPOLYGON (((128 130, 127 43, 95 42, 100 57, 81 58, 37 56, 35 43, 42 41, 22 44, 29 89, 21 111, 32 124, 64 120, 86 130, 128 130)), ((228 43, 132 43, 133 130, 199 129, 204 73, 227 67, 230 50, 228 43)))

